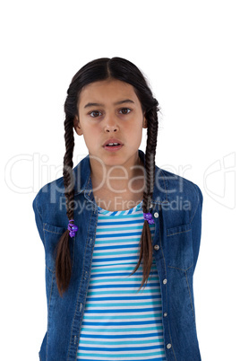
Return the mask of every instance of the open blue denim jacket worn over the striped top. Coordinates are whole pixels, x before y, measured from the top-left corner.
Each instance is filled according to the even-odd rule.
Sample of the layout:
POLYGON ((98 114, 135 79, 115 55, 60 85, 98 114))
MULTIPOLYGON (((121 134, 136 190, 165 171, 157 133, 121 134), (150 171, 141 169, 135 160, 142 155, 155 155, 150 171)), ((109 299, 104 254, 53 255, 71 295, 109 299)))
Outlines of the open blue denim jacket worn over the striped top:
MULTIPOLYGON (((144 163, 145 154, 139 149, 144 163)), ((58 295, 55 248, 67 229, 63 177, 39 189, 32 207, 45 248, 47 332, 39 357, 42 361, 76 360, 81 321, 90 283, 91 258, 98 223, 98 207, 92 192, 90 155, 73 168, 74 224, 70 286, 58 295)), ((150 213, 155 220, 153 257, 162 295, 164 341, 167 361, 201 360, 193 301, 193 272, 201 241, 201 189, 156 165, 150 213)))

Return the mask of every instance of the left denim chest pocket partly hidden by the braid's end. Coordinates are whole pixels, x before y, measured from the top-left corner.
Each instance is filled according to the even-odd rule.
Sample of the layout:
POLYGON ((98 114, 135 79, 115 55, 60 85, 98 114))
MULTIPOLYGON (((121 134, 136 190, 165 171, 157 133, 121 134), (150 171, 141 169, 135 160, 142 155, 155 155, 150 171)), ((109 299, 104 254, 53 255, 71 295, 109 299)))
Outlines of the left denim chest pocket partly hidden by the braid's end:
POLYGON ((45 241, 45 262, 46 267, 52 272, 55 272, 55 260, 56 260, 56 245, 61 238, 61 235, 65 232, 64 227, 58 227, 56 225, 43 224, 44 241, 45 241))

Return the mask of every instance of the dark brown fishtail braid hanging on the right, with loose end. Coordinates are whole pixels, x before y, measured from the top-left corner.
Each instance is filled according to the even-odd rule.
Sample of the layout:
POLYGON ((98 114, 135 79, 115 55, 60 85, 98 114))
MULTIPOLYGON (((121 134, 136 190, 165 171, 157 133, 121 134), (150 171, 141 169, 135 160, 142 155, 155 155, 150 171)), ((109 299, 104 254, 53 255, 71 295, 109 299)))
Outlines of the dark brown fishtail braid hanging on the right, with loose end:
MULTIPOLYGON (((158 104, 158 102, 157 102, 158 104)), ((145 154, 145 182, 146 187, 143 191, 142 199, 142 211, 148 213, 150 211, 150 201, 154 189, 154 180, 155 180, 155 154, 157 147, 157 138, 158 138, 158 107, 155 105, 149 111, 146 111, 145 117, 148 120, 148 130, 147 130, 147 146, 145 154)), ((143 277, 141 281, 141 286, 148 280, 150 275, 150 269, 152 264, 152 241, 150 233, 150 225, 147 220, 144 221, 142 232, 141 232, 141 249, 140 257, 138 264, 133 270, 132 274, 137 271, 141 264, 141 259, 143 258, 143 277)), ((131 274, 131 275, 132 275, 131 274)), ((140 286, 140 288, 141 288, 140 286)))

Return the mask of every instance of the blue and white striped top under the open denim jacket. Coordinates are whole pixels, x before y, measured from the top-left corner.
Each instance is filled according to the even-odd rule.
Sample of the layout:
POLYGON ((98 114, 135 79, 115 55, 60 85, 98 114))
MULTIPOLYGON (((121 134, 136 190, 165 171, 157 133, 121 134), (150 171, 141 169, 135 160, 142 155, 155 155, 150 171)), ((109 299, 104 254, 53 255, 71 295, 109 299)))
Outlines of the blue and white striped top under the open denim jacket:
MULTIPOLYGON (((147 286, 139 260, 142 201, 125 211, 99 207, 90 285, 81 323, 81 361, 163 361, 165 356, 159 277, 153 257, 147 286)), ((150 225, 154 235, 155 225, 150 225)), ((141 260, 142 262, 142 260, 141 260)), ((142 263, 141 263, 142 264, 142 263)))

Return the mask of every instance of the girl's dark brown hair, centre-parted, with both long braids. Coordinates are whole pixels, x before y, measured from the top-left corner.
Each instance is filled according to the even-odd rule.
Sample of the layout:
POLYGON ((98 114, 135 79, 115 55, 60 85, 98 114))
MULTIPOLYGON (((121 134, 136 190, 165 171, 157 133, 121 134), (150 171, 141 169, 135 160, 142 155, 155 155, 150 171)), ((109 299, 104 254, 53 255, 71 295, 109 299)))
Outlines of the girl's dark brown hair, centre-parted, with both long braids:
MULTIPOLYGON (((66 215, 69 220, 73 219, 73 119, 78 115, 78 101, 83 86, 106 80, 108 78, 117 79, 133 85, 139 101, 141 110, 147 120, 147 146, 145 152, 145 188, 143 190, 142 210, 144 213, 150 212, 150 202, 154 188, 155 174, 155 154, 158 138, 158 111, 159 102, 153 97, 147 80, 139 68, 130 61, 122 57, 102 57, 90 61, 82 66, 73 76, 72 82, 67 90, 67 97, 64 102, 64 194, 66 199, 66 215)), ((59 239, 56 248, 56 284, 59 294, 62 296, 69 286, 72 273, 72 260, 69 242, 72 240, 67 229, 59 239)), ((139 261, 133 270, 137 271, 143 259, 143 277, 141 286, 148 281, 152 264, 152 241, 149 223, 145 220, 141 232, 141 249, 139 261)), ((132 274, 133 274, 132 273, 132 274)))

